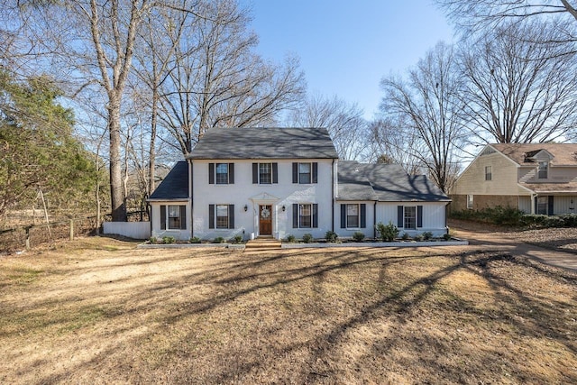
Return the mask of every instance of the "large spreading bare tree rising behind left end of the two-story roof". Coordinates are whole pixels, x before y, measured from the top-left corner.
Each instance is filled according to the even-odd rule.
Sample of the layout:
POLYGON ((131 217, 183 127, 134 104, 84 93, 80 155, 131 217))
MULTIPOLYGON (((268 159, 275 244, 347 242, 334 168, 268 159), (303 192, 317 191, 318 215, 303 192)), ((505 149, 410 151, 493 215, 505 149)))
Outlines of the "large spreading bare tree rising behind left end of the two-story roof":
POLYGON ((160 123, 184 154, 208 128, 272 124, 305 92, 298 60, 275 65, 253 53, 258 39, 245 9, 232 0, 199 9, 207 17, 183 26, 186 40, 160 91, 160 123))

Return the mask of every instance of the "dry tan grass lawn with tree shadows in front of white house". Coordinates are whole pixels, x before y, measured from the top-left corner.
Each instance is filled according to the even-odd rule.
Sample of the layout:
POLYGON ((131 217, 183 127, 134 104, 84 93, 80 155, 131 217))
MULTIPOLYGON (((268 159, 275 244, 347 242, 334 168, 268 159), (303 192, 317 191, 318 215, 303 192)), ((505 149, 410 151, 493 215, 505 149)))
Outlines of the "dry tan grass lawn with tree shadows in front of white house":
POLYGON ((0 286, 1 383, 577 383, 577 273, 502 252, 81 238, 0 286))

